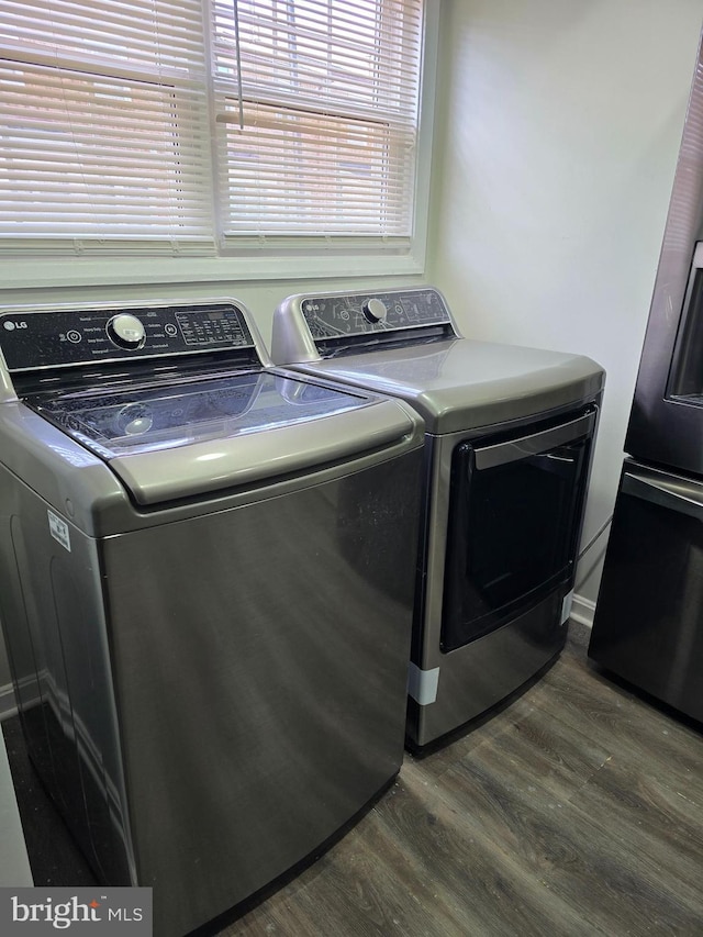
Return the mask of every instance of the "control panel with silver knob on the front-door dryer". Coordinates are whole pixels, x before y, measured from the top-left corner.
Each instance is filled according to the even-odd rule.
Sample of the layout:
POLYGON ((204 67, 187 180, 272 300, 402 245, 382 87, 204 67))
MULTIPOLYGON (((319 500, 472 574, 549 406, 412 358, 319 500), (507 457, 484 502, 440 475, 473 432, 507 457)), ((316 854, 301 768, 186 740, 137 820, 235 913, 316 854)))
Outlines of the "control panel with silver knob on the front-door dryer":
POLYGON ((304 297, 301 310, 315 342, 451 325, 451 316, 442 295, 433 289, 304 297))

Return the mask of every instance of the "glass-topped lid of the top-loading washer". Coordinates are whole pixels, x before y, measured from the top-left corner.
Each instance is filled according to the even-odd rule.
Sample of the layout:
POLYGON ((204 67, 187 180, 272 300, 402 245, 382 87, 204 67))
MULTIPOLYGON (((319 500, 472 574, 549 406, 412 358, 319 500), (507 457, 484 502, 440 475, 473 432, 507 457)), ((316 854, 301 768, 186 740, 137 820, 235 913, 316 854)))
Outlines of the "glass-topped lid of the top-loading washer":
POLYGON ((395 401, 284 371, 25 403, 108 462, 140 504, 313 469, 416 434, 419 423, 395 401))

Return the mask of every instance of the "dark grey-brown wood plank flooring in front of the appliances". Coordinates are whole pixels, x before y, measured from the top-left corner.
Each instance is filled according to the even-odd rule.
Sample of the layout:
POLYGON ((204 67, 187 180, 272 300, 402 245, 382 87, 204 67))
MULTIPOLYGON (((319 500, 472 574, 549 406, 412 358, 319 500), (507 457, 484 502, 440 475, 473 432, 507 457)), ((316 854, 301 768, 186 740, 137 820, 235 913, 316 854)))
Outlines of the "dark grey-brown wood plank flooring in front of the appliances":
POLYGON ((585 629, 399 779, 227 937, 703 935, 703 734, 616 687, 585 629))

